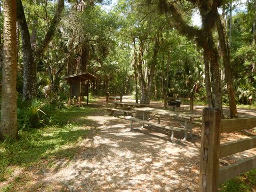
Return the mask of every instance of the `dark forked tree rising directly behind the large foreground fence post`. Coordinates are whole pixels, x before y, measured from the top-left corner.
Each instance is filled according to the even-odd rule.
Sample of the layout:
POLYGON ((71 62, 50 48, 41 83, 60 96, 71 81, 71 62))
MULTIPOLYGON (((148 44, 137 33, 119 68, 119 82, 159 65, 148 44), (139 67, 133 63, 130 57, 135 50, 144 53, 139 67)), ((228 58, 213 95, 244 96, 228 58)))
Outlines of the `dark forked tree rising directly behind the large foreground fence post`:
POLYGON ((186 35, 190 39, 195 39, 197 45, 202 47, 204 50, 205 61, 210 63, 210 72, 211 72, 211 90, 206 89, 207 95, 211 95, 213 107, 219 108, 222 110, 222 98, 221 98, 221 80, 220 80, 220 66, 219 66, 219 55, 218 50, 214 42, 212 29, 215 24, 216 14, 218 12, 218 7, 221 6, 222 1, 213 0, 209 1, 192 1, 189 0, 191 5, 198 7, 199 13, 202 17, 202 28, 197 29, 190 26, 186 20, 183 18, 183 15, 186 14, 182 9, 180 9, 177 2, 169 2, 166 0, 159 0, 159 8, 165 13, 171 13, 167 15, 170 18, 171 24, 175 27, 180 34, 186 35))

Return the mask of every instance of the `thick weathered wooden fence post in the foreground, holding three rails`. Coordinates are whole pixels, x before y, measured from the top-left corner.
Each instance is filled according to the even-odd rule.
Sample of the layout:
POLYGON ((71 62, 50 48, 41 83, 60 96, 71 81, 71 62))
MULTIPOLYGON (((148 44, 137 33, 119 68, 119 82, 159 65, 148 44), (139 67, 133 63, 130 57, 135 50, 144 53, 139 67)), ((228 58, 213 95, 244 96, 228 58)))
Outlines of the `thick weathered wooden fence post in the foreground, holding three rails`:
POLYGON ((216 108, 203 110, 201 132, 199 191, 216 192, 219 176, 221 111, 216 108))

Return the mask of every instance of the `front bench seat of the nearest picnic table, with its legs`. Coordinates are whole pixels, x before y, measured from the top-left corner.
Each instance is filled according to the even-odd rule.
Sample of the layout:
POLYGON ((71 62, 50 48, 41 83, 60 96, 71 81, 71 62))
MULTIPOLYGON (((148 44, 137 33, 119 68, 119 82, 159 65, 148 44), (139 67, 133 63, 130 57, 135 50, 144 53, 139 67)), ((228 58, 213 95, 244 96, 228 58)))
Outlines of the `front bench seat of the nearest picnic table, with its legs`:
POLYGON ((145 120, 135 118, 135 117, 132 117, 132 116, 121 116, 119 118, 123 118, 123 119, 127 119, 127 120, 131 121, 131 129, 132 129, 132 123, 135 121, 135 122, 140 122, 142 124, 152 125, 154 127, 160 127, 160 128, 165 129, 167 131, 172 131, 172 134, 171 134, 171 141, 172 142, 174 142, 173 141, 174 131, 179 131, 179 132, 184 131, 185 135, 184 135, 183 140, 185 141, 187 139, 187 129, 186 128, 167 126, 167 125, 163 125, 163 124, 159 124, 159 123, 155 123, 155 122, 145 121, 145 120))

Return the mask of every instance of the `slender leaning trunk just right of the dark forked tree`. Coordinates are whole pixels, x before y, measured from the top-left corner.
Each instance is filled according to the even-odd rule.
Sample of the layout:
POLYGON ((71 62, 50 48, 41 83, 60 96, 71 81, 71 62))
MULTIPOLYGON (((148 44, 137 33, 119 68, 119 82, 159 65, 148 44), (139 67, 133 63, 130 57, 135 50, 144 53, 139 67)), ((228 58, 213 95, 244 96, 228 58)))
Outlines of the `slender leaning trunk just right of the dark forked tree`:
POLYGON ((228 91, 230 118, 234 118, 234 117, 237 117, 237 109, 236 109, 236 99, 235 99, 235 91, 234 91, 234 84, 233 84, 233 75, 231 73, 231 65, 230 65, 230 52, 228 49, 228 45, 226 43, 224 28, 222 26, 220 15, 218 13, 216 17, 216 25, 217 25, 217 30, 218 30, 219 40, 220 40, 222 60, 225 68, 225 81, 227 84, 227 91, 228 91))

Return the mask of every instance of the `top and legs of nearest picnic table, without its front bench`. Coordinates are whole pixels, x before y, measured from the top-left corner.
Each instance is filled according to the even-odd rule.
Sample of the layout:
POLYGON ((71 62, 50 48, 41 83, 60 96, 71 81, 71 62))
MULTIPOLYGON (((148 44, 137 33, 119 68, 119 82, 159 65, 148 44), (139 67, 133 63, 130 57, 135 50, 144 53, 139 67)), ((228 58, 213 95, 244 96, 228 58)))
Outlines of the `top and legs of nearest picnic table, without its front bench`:
MULTIPOLYGON (((186 130, 189 129, 189 136, 192 138, 192 123, 193 119, 201 118, 201 114, 194 114, 194 113, 189 113, 189 112, 180 112, 180 111, 169 111, 169 110, 163 110, 163 109, 156 109, 152 107, 142 107, 142 108, 134 108, 135 114, 134 117, 137 117, 139 111, 143 112, 143 121, 149 120, 150 114, 154 114, 154 116, 158 115, 160 117, 164 118, 174 118, 180 123, 180 119, 185 121, 185 125, 180 123, 183 127, 185 127, 186 130), (145 119, 147 118, 147 119, 145 119), (189 122, 189 124, 188 124, 189 122)), ((158 121, 159 123, 159 121, 158 121)), ((185 138, 186 140, 186 138, 185 138)))

